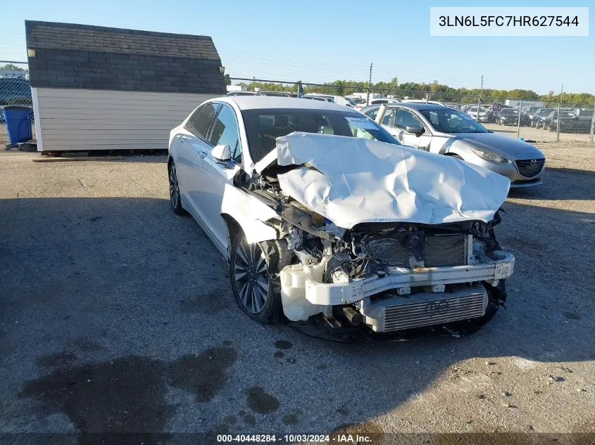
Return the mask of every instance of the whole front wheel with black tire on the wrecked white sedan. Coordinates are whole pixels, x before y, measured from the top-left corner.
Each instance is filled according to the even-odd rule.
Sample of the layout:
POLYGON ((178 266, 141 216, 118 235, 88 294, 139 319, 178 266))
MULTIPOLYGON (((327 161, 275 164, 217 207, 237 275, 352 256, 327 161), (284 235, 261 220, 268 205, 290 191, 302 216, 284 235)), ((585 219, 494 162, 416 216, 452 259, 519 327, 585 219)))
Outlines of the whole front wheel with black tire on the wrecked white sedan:
POLYGON ((282 303, 278 278, 270 276, 261 245, 247 243, 243 233, 232 243, 230 280, 234 299, 246 315, 265 324, 280 320, 282 303))

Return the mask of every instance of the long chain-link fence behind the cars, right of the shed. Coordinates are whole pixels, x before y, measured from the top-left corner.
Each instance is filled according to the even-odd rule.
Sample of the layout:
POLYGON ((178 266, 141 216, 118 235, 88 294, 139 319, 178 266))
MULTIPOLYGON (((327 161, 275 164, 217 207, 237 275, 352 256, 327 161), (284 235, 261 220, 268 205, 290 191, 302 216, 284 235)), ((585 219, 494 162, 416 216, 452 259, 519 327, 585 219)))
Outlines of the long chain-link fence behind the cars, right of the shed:
POLYGON ((487 129, 525 141, 590 141, 594 142, 595 101, 565 102, 518 98, 495 98, 487 95, 466 95, 447 91, 403 90, 361 85, 311 84, 263 79, 231 78, 238 90, 232 94, 268 94, 303 96, 347 105, 358 109, 366 104, 387 102, 440 103, 467 113, 487 129))

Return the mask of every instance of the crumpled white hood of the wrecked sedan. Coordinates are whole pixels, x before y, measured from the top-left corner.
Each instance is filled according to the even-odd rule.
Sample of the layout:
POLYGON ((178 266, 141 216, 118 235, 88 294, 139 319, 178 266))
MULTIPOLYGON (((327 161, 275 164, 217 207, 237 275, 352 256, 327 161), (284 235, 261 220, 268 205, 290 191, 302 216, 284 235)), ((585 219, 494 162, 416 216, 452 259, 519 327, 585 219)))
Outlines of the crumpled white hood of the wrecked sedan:
MULTIPOLYGON (((275 150, 273 150, 275 153, 275 150)), ((444 155, 347 136, 292 133, 277 138, 284 193, 335 225, 491 221, 510 181, 444 155)), ((256 169, 272 162, 265 157, 256 169)))

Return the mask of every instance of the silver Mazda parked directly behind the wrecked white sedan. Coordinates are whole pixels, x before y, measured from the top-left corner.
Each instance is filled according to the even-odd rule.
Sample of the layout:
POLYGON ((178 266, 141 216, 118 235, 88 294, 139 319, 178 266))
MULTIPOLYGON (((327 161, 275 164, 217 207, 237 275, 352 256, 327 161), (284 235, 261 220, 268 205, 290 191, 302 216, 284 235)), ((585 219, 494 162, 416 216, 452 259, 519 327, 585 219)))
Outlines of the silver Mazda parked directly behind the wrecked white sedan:
MULTIPOLYGON (((379 108, 372 105, 361 112, 375 119, 379 108)), ((464 112, 434 104, 389 105, 382 126, 406 146, 455 156, 502 174, 512 188, 541 184, 546 158, 537 147, 492 133, 464 112)))

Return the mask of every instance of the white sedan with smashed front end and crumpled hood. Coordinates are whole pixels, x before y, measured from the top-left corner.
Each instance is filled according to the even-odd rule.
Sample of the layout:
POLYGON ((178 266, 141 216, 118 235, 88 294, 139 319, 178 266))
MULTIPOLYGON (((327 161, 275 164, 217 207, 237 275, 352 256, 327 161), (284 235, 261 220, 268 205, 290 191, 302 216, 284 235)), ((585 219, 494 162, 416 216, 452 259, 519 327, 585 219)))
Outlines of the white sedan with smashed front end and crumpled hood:
POLYGON ((168 173, 173 210, 213 240, 257 321, 449 329, 506 299, 515 259, 494 226, 510 181, 401 146, 341 105, 207 101, 171 131, 168 173))

